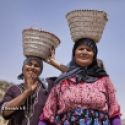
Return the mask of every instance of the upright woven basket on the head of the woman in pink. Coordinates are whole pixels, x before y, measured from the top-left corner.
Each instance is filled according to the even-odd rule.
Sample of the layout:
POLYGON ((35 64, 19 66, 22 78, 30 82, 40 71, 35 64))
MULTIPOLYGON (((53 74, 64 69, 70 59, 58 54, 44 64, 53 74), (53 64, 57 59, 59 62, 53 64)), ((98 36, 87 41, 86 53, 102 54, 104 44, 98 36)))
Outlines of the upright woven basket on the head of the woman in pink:
POLYGON ((107 22, 107 14, 97 10, 75 10, 66 15, 72 40, 91 38, 99 42, 107 22))

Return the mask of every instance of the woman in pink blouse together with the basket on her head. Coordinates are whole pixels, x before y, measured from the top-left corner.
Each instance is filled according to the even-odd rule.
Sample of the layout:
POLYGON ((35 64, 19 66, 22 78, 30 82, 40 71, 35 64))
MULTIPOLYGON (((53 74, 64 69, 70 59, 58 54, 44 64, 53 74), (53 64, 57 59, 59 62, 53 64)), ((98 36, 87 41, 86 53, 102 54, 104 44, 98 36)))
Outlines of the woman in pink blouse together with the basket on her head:
POLYGON ((98 65, 97 45, 106 13, 77 10, 67 14, 74 41, 69 70, 60 75, 42 109, 39 125, 121 125, 115 88, 98 65))

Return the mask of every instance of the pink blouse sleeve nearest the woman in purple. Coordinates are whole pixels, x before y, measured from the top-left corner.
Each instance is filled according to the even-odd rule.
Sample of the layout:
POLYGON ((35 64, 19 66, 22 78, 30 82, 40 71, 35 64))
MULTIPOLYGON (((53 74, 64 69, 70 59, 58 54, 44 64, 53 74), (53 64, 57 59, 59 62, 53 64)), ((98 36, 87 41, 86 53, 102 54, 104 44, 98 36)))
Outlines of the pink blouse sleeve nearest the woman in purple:
POLYGON ((40 120, 48 120, 50 122, 54 122, 54 116, 57 111, 57 103, 58 103, 58 93, 56 91, 56 87, 53 87, 49 97, 46 101, 46 104, 43 108, 43 113, 40 116, 40 120))

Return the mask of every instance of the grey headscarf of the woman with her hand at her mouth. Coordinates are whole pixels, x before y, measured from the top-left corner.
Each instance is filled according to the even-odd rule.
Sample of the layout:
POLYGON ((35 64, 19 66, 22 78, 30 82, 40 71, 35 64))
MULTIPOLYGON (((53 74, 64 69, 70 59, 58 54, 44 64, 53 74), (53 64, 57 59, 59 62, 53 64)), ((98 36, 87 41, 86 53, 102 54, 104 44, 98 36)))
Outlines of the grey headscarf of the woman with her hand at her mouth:
MULTIPOLYGON (((42 61, 41 58, 35 57, 35 56, 28 56, 28 57, 24 60, 23 66, 22 66, 22 72, 23 72, 24 66, 25 66, 26 64, 28 64, 31 60, 36 60, 36 61, 39 63, 39 65, 40 65, 40 67, 41 67, 41 70, 40 70, 40 74, 41 74, 41 73, 42 73, 42 70, 43 70, 43 61, 42 61)), ((18 78, 18 79, 23 79, 23 78, 24 78, 23 73, 21 73, 20 75, 18 75, 17 78, 18 78)))

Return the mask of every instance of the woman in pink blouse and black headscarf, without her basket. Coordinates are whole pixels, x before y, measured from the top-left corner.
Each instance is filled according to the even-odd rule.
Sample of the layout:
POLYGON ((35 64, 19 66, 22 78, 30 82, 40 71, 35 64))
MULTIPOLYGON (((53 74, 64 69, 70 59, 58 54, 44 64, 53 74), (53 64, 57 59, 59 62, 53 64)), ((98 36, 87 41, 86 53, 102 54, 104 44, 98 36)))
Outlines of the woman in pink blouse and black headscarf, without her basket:
POLYGON ((56 83, 41 120, 54 125, 121 125, 115 89, 104 68, 97 65, 92 39, 75 42, 69 71, 56 83))

